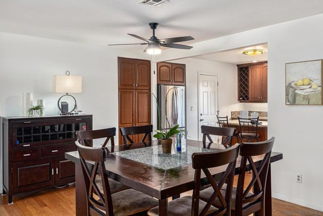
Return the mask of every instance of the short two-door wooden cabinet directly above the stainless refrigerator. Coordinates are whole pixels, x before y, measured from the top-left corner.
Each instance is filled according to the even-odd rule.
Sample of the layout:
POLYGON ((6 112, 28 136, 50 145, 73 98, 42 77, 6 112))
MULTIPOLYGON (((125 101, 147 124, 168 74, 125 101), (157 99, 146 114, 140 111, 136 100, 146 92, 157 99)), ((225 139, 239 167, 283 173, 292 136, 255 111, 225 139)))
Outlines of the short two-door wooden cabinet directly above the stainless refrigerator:
POLYGON ((157 84, 185 85, 185 65, 157 63, 157 84))

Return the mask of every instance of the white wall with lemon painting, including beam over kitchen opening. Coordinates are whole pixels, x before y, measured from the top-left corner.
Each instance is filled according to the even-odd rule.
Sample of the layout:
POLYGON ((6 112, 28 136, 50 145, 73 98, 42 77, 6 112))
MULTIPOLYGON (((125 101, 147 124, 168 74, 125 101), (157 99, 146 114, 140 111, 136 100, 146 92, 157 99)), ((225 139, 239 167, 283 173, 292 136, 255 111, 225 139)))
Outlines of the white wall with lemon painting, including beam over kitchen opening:
POLYGON ((268 43, 268 137, 283 160, 272 166, 273 196, 323 211, 323 106, 285 105, 285 63, 323 59, 323 14, 167 50, 158 61, 268 43), (303 182, 296 183, 296 174, 303 182))

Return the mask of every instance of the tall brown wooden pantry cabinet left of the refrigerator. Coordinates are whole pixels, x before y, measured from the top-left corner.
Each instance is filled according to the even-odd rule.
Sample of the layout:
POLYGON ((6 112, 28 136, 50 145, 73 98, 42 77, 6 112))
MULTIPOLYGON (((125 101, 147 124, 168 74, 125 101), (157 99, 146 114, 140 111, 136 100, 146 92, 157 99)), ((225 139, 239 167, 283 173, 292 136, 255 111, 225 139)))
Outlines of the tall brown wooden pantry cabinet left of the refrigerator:
MULTIPOLYGON (((150 61, 118 58, 119 128, 151 124, 150 72, 150 61)), ((130 138, 139 142, 142 134, 130 138)))

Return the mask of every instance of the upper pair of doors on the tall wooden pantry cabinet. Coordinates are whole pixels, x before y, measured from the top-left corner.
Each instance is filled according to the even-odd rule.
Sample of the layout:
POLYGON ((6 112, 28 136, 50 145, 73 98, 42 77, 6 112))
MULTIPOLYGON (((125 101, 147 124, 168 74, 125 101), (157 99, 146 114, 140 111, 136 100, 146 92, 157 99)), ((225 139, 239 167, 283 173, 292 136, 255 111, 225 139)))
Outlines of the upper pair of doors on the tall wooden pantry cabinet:
POLYGON ((150 61, 118 57, 119 89, 150 89, 150 61))

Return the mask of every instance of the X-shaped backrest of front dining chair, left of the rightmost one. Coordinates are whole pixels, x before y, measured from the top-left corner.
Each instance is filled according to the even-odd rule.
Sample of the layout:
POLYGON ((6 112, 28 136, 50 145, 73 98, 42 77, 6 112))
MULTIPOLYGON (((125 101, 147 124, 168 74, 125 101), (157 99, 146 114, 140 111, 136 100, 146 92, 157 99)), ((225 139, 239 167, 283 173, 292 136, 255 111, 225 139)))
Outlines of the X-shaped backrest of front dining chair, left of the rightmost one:
POLYGON ((191 215, 205 215, 216 198, 220 200, 222 206, 217 206, 219 210, 212 213, 212 215, 224 215, 227 211, 231 210, 232 187, 238 154, 239 144, 225 150, 192 154, 192 167, 195 169, 195 176, 191 215), (217 184, 208 169, 224 165, 228 165, 228 167, 217 184), (210 182, 214 193, 210 196, 210 199, 207 201, 207 204, 204 206, 201 213, 198 214, 201 171, 203 171, 207 180, 210 182), (223 194, 221 193, 224 183, 227 183, 225 197, 223 197, 223 194))

